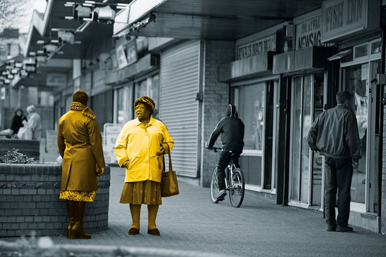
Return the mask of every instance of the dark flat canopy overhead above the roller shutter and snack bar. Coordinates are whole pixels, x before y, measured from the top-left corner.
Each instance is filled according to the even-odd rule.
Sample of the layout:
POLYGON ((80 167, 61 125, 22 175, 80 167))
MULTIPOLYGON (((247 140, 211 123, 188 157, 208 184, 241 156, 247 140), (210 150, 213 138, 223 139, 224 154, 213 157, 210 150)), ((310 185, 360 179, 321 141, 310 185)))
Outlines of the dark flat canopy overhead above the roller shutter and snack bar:
POLYGON ((133 0, 129 24, 116 34, 236 40, 320 8, 321 3, 321 0, 133 0), (155 15, 155 22, 130 31, 131 26, 150 13, 155 15))

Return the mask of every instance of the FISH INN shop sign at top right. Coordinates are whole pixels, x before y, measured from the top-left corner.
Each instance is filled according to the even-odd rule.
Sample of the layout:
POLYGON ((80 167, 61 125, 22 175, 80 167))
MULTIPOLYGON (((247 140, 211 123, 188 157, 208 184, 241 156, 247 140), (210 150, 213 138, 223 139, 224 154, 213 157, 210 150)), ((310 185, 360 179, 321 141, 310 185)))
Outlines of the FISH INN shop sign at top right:
POLYGON ((379 2, 326 0, 322 2, 322 43, 379 28, 379 2))

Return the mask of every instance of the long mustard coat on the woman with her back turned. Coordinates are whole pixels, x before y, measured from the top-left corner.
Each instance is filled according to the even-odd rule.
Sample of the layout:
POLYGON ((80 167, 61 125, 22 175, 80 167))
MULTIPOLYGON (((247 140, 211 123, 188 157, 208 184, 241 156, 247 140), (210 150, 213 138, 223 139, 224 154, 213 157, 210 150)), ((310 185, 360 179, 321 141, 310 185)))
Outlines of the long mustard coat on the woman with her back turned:
POLYGON ((98 123, 89 108, 60 117, 58 148, 63 158, 61 190, 98 190, 95 168, 104 168, 105 159, 98 123))

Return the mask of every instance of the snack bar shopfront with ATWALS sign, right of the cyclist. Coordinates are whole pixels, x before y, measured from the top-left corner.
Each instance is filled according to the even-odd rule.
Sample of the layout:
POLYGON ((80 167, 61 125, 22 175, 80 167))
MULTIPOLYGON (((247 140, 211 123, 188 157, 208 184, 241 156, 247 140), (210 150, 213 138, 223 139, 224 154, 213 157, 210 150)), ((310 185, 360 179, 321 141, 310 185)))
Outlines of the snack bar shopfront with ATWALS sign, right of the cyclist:
POLYGON ((230 101, 244 123, 239 158, 245 188, 276 193, 280 75, 272 75, 276 30, 283 24, 236 41, 236 61, 219 67, 219 81, 231 86, 230 101))

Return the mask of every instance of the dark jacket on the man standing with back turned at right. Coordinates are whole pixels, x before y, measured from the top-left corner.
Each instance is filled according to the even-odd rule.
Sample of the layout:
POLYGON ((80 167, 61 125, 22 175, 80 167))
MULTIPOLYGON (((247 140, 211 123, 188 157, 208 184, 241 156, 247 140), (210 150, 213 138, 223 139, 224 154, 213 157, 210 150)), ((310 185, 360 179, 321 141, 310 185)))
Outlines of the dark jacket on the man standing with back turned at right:
POLYGON ((358 124, 353 111, 342 106, 320 114, 308 132, 308 145, 327 157, 360 159, 358 124))

